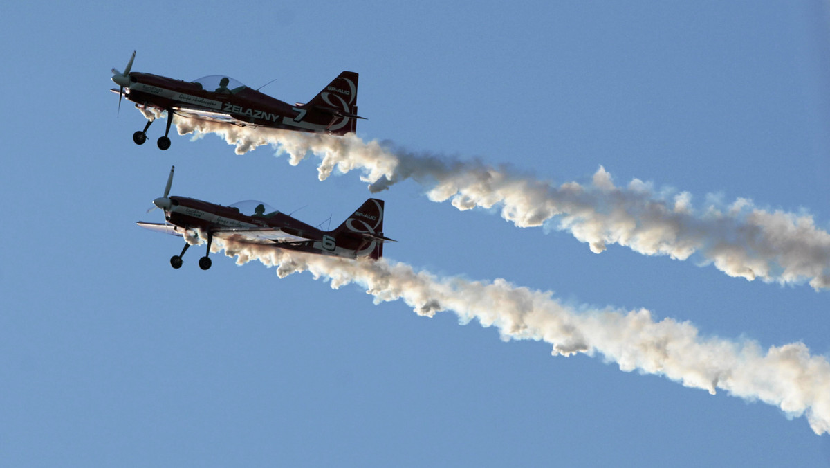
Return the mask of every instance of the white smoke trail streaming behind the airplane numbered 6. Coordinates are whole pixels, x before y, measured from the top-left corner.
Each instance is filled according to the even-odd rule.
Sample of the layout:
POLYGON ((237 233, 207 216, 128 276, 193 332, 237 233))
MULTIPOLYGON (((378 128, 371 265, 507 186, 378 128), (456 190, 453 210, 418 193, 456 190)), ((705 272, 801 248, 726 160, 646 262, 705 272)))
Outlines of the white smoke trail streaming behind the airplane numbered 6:
POLYGON ((554 356, 600 354, 621 370, 657 374, 685 387, 720 388, 746 400, 779 406, 788 416, 807 416, 816 434, 830 432, 830 362, 811 356, 802 342, 769 347, 748 339, 701 337, 688 322, 655 321, 646 309, 571 308, 552 293, 492 282, 438 278, 407 264, 292 253, 274 247, 217 239, 237 264, 259 260, 283 278, 308 271, 332 288, 357 283, 375 303, 403 300, 420 315, 452 311, 461 323, 476 319, 498 328, 503 340, 548 342, 554 356))

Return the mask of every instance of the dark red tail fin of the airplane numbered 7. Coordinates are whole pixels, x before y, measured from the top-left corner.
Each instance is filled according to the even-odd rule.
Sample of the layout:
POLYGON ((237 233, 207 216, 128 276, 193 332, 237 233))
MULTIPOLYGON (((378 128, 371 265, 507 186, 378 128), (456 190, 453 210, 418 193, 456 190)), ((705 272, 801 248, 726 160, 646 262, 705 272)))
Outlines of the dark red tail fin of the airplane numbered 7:
POLYGON ((358 74, 343 71, 303 107, 331 116, 326 130, 335 135, 354 132, 357 119, 363 118, 358 116, 358 74))

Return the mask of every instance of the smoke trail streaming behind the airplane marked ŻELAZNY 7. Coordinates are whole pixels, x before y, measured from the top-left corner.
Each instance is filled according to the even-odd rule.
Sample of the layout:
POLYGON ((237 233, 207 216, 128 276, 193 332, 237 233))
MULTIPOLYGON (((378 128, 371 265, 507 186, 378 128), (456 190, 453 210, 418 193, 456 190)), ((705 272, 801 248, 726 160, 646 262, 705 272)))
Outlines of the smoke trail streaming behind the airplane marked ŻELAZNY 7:
POLYGON ((461 210, 499 206, 501 216, 516 226, 544 224, 569 231, 594 253, 620 244, 672 259, 698 254, 733 277, 782 284, 808 281, 816 290, 830 288, 830 234, 806 213, 759 209, 746 199, 728 205, 710 201, 695 209, 686 192, 657 192, 641 180, 614 185, 602 167, 590 184, 557 186, 505 165, 417 155, 355 135, 246 129, 188 119, 178 119, 177 125, 180 134, 221 135, 236 145, 237 154, 270 144, 290 155, 291 165, 308 154, 318 155, 320 180, 334 169, 360 170, 372 192, 412 179, 425 187, 430 200, 451 200, 461 210))

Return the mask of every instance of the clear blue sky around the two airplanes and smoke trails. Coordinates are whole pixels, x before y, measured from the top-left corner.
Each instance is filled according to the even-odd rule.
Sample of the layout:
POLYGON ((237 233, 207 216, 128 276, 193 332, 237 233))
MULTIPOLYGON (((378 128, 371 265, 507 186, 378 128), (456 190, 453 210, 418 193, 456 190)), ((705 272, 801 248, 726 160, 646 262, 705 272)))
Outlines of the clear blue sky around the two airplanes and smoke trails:
MULTIPOLYGON (((317 160, 245 155, 216 135, 170 150, 116 116, 110 68, 223 73, 307 101, 360 73, 358 136, 554 184, 603 166, 692 204, 808 213, 828 229, 826 2, 227 2, 0 7, 7 90, 0 257, 4 466, 830 466, 830 439, 776 406, 552 357, 544 342, 375 305, 356 285, 256 262, 168 259, 139 229, 173 195, 259 199, 332 224, 372 196, 317 160), (727 3, 727 4, 725 4, 727 3)), ((704 260, 594 254, 567 231, 386 200, 388 258, 505 278, 575 308, 647 308, 701 336, 830 353, 828 292, 727 276, 704 260)), ((194 249, 203 249, 194 248, 194 249)), ((826 389, 830 392, 830 388, 826 389)))

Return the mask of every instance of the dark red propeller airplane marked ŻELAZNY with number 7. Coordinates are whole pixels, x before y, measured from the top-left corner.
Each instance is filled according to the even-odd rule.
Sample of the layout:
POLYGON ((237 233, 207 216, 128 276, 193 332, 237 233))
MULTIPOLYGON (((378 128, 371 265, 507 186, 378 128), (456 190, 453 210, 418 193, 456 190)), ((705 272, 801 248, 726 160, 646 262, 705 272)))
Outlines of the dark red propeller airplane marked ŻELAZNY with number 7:
POLYGON ((147 117, 144 130, 133 134, 136 145, 147 140, 147 129, 157 111, 167 112, 167 128, 159 137, 159 149, 170 147, 170 125, 173 115, 192 117, 203 121, 223 122, 236 126, 265 126, 269 128, 314 133, 345 135, 354 132, 358 116, 358 74, 344 71, 305 104, 294 106, 251 89, 228 76, 204 76, 194 81, 182 81, 166 76, 132 71, 135 51, 129 57, 124 72, 112 69, 112 81, 119 86, 110 91, 133 101, 147 117))

